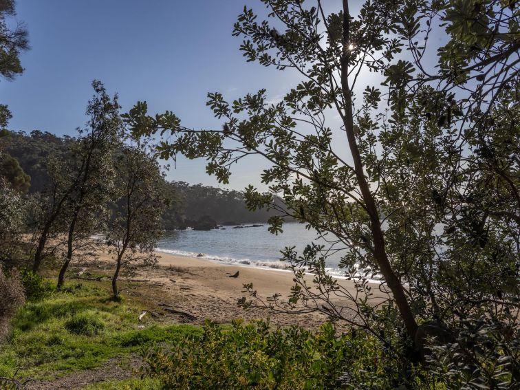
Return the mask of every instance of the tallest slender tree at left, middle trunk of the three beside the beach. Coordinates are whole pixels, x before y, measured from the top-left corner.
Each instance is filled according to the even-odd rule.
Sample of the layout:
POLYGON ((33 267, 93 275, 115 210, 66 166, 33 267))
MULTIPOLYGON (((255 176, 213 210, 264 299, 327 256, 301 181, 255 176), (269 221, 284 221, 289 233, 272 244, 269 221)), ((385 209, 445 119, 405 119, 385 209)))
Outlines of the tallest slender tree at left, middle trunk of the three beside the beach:
POLYGON ((58 288, 65 281, 65 272, 74 252, 91 246, 91 236, 102 231, 106 220, 107 202, 113 195, 112 154, 120 147, 122 127, 117 96, 113 99, 99 82, 92 83, 94 98, 89 102, 89 130, 80 131, 77 142, 71 144, 67 164, 67 252, 58 276, 58 288), (85 135, 83 135, 85 133, 85 135))

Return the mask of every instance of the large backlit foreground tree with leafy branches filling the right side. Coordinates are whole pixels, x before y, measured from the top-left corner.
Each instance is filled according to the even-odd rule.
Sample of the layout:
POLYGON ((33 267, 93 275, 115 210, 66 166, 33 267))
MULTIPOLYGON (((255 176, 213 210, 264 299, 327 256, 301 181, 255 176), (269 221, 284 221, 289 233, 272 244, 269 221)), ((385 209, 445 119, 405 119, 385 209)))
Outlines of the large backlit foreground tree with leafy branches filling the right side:
MULTIPOLYGON (((169 111, 149 116, 139 102, 124 117, 133 132, 169 133, 158 148, 162 158, 207 158, 208 173, 224 183, 233 163, 263 156, 272 164, 261 175, 270 193, 250 186, 250 208, 277 208, 279 195, 287 214, 343 251, 341 266, 356 294, 325 272, 330 248, 311 244, 302 254, 286 248, 296 285, 288 302, 277 295, 266 303, 273 309, 296 310, 299 303, 365 329, 385 350, 402 354, 400 375, 418 359, 411 345, 425 354, 425 338, 467 336, 464 321, 477 318, 516 329, 500 339, 506 360, 514 361, 520 308, 514 2, 366 1, 355 16, 347 0, 330 14, 319 0, 261 3, 273 22, 257 21, 244 8, 233 32, 244 37, 241 51, 248 61, 301 75, 301 83, 277 103, 264 89, 232 102, 208 94, 224 122, 217 130, 190 129, 169 111), (429 38, 441 26, 447 43, 432 46, 429 38), (315 274, 312 283, 303 267, 315 274), (371 303, 373 272, 384 279, 384 303, 371 303), (335 303, 336 296, 354 309, 335 303)), ((281 218, 271 222, 271 231, 281 232, 281 218)), ((469 356, 470 349, 459 352, 469 356)), ((466 362, 469 371, 477 364, 466 362)), ((500 380, 519 380, 517 365, 502 368, 500 380)), ((476 380, 493 386, 493 375, 476 380)))

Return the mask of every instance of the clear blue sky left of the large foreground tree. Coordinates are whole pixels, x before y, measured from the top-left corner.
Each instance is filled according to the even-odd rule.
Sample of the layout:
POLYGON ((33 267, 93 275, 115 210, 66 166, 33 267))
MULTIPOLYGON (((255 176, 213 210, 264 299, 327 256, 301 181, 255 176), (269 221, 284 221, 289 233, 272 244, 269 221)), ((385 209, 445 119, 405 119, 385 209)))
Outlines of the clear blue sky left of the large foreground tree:
MULTIPOLYGON (((299 79, 246 63, 231 36, 244 4, 265 10, 252 0, 19 0, 32 48, 21 56, 25 72, 0 83, 10 129, 73 135, 85 124, 94 78, 119 94, 123 111, 147 100, 151 113, 169 109, 188 127, 221 126, 206 107, 208 91, 232 99, 266 87, 279 98, 299 79)), ((237 166, 231 187, 258 183, 262 168, 259 160, 237 166)), ((180 160, 168 177, 217 184, 204 161, 180 160)))

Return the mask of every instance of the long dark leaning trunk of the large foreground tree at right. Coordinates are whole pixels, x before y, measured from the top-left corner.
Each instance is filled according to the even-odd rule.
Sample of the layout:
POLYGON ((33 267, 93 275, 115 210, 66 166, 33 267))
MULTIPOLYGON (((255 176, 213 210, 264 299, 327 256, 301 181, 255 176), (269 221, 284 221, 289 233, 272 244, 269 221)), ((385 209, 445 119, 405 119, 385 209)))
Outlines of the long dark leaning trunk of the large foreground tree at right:
POLYGON ((415 333, 417 332, 417 322, 411 311, 411 307, 408 303, 407 296, 404 294, 402 284, 396 274, 393 272, 390 263, 388 261, 387 252, 384 247, 384 237, 381 230, 379 211, 374 202, 372 193, 370 191, 369 184, 365 178, 365 172, 363 170, 363 164, 356 142, 356 136, 354 135, 354 115, 352 113, 352 97, 349 88, 348 81, 348 63, 349 63, 349 3, 348 0, 343 0, 343 58, 341 58, 341 87, 343 90, 343 98, 345 99, 345 116, 343 116, 343 124, 345 125, 345 131, 347 133, 347 139, 349 142, 349 149, 354 160, 354 169, 356 171, 356 179, 361 191, 363 201, 367 207, 367 213, 370 217, 370 228, 373 238, 373 256, 375 257, 380 271, 390 288, 393 299, 396 301, 396 305, 401 314, 404 326, 407 328, 407 333, 413 340, 415 333))

